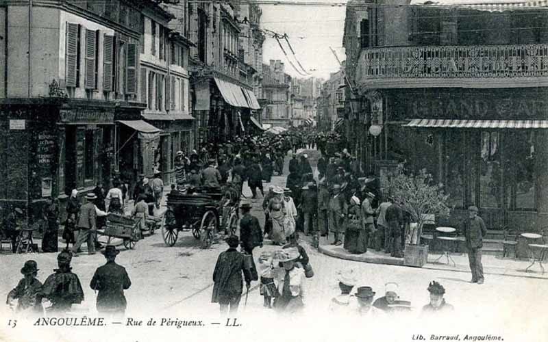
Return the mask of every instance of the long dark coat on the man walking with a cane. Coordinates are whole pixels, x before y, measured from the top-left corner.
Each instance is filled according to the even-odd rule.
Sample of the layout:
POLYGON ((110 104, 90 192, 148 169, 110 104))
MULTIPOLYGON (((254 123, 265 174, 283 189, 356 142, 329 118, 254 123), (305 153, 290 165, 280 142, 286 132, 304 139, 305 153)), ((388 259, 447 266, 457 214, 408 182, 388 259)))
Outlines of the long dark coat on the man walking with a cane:
POLYGON ((218 303, 242 295, 243 281, 251 282, 251 273, 246 269, 244 256, 235 248, 229 248, 219 254, 213 271, 213 293, 211 302, 218 303))

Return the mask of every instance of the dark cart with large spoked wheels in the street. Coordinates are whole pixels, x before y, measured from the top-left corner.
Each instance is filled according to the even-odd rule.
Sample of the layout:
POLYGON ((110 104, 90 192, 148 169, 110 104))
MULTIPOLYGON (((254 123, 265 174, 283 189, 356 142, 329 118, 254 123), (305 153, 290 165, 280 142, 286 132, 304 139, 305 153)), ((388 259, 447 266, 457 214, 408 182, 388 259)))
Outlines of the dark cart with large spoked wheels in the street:
POLYGON ((175 245, 179 231, 192 231, 202 247, 211 246, 214 233, 224 226, 225 232, 236 233, 238 227, 238 200, 226 200, 225 192, 219 188, 201 187, 193 192, 168 194, 162 237, 167 246, 175 245), (223 219, 225 211, 225 222, 223 219))

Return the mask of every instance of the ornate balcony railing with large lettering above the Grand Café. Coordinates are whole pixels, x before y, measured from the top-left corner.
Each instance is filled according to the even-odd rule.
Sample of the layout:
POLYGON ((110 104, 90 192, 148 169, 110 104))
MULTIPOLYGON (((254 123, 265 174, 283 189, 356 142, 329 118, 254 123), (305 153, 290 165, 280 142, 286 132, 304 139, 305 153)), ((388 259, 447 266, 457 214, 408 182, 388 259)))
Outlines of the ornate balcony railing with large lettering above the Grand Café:
POLYGON ((356 69, 358 82, 530 77, 548 77, 548 44, 364 49, 356 69))

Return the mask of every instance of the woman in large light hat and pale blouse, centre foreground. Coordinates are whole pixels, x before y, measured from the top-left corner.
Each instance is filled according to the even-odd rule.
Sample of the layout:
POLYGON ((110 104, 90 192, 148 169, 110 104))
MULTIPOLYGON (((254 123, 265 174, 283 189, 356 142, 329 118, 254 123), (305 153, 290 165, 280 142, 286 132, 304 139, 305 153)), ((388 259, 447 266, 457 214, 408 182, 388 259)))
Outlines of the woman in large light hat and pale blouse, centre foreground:
POLYGON ((283 265, 275 269, 280 295, 274 300, 274 307, 278 312, 297 313, 304 307, 306 277, 304 270, 295 264, 300 255, 299 250, 294 247, 274 253, 274 265, 283 265))

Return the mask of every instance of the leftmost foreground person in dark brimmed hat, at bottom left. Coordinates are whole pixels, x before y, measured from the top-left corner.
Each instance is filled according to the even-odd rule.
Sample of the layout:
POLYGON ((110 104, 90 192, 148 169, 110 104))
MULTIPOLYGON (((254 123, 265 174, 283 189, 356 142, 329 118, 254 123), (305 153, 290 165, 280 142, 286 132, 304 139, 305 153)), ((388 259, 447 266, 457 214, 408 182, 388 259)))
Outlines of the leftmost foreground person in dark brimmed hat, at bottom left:
POLYGON ((34 260, 25 261, 21 269, 24 278, 19 280, 17 286, 8 293, 6 304, 12 306, 12 300, 18 300, 16 311, 30 309, 34 313, 42 313, 42 303, 36 299, 42 283, 36 279, 38 264, 34 260))

